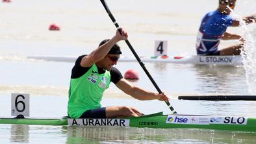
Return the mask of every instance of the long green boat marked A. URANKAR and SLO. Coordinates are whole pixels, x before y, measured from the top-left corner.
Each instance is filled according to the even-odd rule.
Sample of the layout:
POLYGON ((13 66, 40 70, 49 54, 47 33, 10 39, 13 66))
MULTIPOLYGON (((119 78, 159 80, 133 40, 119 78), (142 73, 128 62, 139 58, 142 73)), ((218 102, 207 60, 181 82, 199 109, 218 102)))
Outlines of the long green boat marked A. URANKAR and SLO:
POLYGON ((0 118, 0 124, 60 126, 131 126, 138 128, 199 128, 256 132, 256 118, 211 115, 163 115, 162 112, 123 119, 14 119, 0 118))

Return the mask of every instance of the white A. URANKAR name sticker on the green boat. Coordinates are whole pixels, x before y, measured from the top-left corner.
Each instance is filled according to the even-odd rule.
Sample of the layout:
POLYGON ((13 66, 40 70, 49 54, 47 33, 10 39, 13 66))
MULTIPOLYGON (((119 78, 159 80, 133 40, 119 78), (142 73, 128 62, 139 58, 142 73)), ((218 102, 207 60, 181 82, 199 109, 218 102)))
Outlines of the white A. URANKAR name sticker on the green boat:
POLYGON ((68 119, 75 126, 129 126, 129 119, 68 119))

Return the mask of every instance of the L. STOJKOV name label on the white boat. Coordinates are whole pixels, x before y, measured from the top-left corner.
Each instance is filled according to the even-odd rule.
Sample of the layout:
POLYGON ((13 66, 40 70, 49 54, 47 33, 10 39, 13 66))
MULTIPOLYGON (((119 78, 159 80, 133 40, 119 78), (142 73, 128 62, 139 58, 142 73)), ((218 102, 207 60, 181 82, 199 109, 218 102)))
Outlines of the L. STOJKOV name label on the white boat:
POLYGON ((199 57, 199 62, 215 62, 215 63, 231 63, 233 60, 232 57, 225 56, 205 56, 199 57))

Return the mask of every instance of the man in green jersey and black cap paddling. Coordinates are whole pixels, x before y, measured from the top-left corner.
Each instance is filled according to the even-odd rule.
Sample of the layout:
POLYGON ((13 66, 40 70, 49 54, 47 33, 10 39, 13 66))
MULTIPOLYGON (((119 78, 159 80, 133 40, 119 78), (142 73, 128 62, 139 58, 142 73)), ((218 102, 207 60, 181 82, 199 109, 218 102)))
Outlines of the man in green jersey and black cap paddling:
POLYGON ((117 42, 127 40, 127 32, 116 31, 112 39, 103 40, 99 47, 88 55, 77 58, 71 71, 68 115, 71 118, 114 118, 143 115, 129 106, 101 107, 103 93, 113 82, 124 93, 139 100, 169 101, 168 95, 147 91, 134 86, 120 71, 113 67, 122 54, 117 42))

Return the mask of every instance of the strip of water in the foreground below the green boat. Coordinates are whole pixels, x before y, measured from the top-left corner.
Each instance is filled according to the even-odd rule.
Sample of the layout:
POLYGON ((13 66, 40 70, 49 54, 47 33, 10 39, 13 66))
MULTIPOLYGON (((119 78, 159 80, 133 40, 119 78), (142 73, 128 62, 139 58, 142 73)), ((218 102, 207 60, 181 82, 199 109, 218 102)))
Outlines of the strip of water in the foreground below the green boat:
POLYGON ((214 130, 3 125, 3 143, 253 143, 253 134, 214 130), (40 133, 38 133, 40 129, 40 133), (53 138, 54 135, 54 138, 53 138), (44 141, 42 141, 44 139, 44 141))

